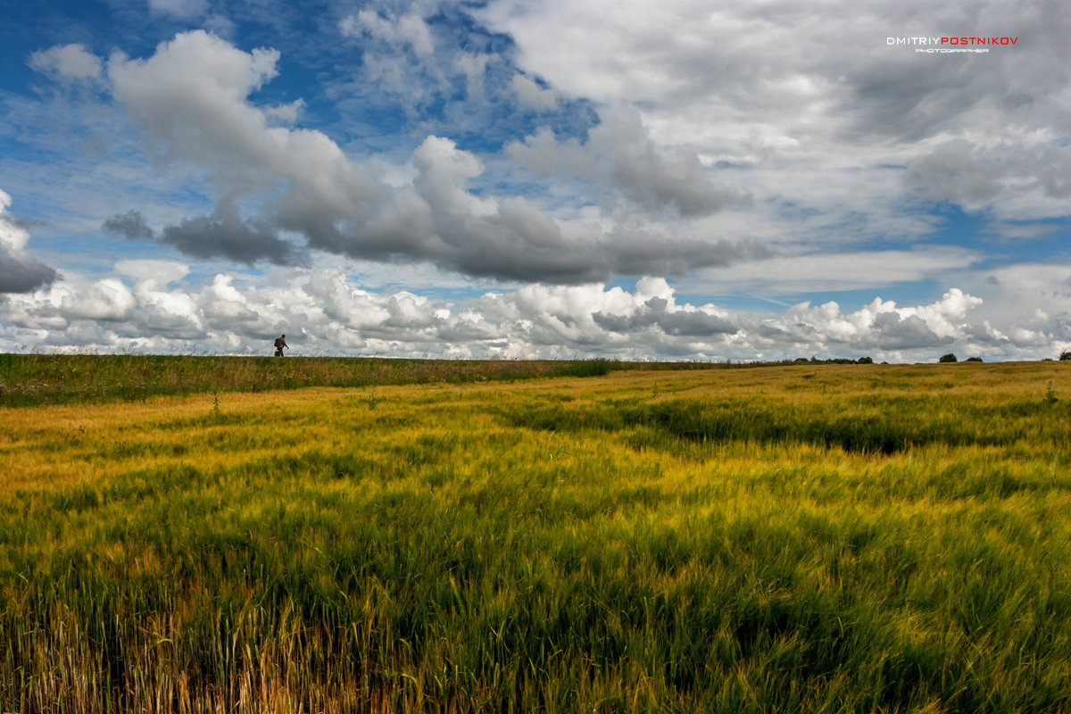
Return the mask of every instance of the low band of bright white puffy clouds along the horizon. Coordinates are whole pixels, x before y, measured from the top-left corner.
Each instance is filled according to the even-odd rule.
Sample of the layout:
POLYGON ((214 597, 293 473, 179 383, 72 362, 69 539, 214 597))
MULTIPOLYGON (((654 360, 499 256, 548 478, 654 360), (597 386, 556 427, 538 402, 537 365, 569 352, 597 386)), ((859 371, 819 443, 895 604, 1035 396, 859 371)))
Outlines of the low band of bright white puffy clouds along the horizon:
POLYGON ((1055 355, 1071 337, 1071 289, 1055 272, 1043 278, 1058 291, 1052 312, 1000 326, 999 306, 959 288, 918 305, 877 298, 857 310, 830 301, 763 314, 683 299, 663 278, 631 289, 527 285, 459 299, 362 288, 337 268, 280 268, 267 282, 218 273, 199 287, 178 261, 122 260, 115 273, 121 277, 67 274, 10 295, 0 319, 12 331, 0 347, 267 354, 271 338, 286 333, 295 354, 933 362, 953 350, 986 360, 1055 355))

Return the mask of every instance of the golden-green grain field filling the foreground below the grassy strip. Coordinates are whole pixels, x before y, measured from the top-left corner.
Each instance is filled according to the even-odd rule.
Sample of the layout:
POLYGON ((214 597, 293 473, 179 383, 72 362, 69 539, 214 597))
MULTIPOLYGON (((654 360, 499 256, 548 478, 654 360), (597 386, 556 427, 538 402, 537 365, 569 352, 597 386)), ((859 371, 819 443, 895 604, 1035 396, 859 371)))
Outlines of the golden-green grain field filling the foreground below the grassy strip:
POLYGON ((605 371, 13 391, 0 711, 1071 712, 1067 365, 605 371))

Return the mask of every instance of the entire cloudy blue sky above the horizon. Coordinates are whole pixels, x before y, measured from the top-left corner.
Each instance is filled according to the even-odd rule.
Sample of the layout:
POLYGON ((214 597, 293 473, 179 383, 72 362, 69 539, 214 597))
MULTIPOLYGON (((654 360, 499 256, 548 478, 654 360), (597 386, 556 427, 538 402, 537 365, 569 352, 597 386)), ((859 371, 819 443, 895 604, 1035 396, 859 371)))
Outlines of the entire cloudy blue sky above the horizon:
POLYGON ((0 0, 0 351, 1071 347, 1059 0, 0 0))

